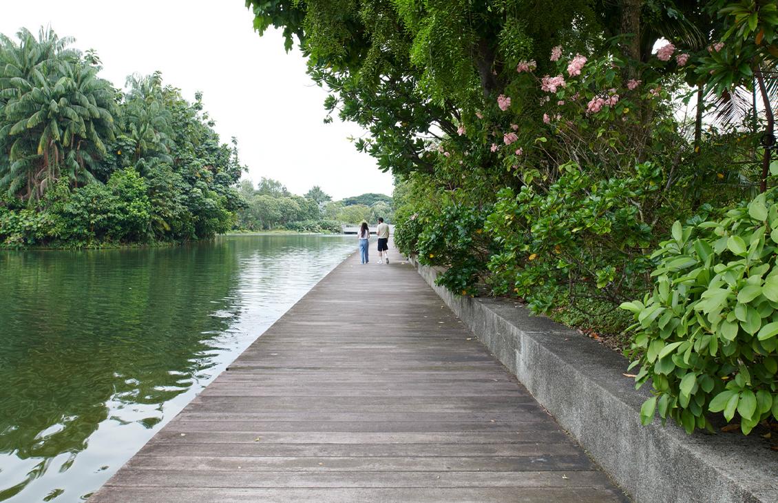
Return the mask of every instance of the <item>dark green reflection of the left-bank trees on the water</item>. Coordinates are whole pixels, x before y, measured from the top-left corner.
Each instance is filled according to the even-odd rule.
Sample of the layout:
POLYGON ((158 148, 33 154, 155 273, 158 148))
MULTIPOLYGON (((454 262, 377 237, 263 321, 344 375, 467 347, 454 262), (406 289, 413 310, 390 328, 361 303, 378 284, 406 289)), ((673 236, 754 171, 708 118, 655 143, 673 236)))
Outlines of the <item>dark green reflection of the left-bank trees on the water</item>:
MULTIPOLYGON (((0 452, 42 458, 0 500, 75 454, 107 403, 161 404, 186 391, 229 325, 233 244, 0 256, 0 452), (216 301, 216 304, 212 303, 216 301), (205 333, 204 333, 205 332, 205 333)), ((152 409, 149 407, 149 409, 152 409)), ((138 422, 152 427, 160 407, 138 422)))

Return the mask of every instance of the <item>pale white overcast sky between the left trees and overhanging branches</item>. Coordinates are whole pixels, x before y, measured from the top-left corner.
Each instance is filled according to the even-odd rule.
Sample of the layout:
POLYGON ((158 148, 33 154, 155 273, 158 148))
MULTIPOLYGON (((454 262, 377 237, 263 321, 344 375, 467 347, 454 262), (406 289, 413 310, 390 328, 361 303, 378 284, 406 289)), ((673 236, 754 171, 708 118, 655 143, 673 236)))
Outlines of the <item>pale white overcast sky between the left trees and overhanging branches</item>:
POLYGON ((300 195, 319 185, 334 199, 391 195, 391 174, 349 141, 366 132, 337 118, 324 124, 326 92, 305 73, 300 51, 287 54, 278 31, 259 37, 244 0, 2 3, 0 33, 51 25, 75 37, 72 47, 96 49, 100 76, 114 86, 159 70, 187 100, 202 91, 216 132, 223 142, 237 137, 244 178, 254 183, 275 178, 300 195))

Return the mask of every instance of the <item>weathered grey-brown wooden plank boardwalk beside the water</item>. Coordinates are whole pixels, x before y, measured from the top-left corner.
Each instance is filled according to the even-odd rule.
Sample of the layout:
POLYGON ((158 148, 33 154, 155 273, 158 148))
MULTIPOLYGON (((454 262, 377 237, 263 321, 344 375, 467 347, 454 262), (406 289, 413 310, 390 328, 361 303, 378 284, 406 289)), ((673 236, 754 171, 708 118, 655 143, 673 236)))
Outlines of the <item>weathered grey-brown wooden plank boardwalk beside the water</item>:
POLYGON ((626 501, 415 269, 394 250, 377 264, 374 247, 89 501, 626 501))

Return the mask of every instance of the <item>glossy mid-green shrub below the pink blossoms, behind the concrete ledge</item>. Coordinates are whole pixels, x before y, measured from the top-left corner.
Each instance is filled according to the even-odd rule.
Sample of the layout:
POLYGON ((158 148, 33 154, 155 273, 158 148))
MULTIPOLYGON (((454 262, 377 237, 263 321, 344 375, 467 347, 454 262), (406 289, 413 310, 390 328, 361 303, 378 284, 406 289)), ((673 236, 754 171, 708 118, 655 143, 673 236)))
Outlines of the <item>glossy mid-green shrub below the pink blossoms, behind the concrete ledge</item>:
POLYGON ((489 285, 524 297, 535 312, 576 295, 617 305, 646 284, 652 232, 640 209, 650 206, 661 171, 646 163, 629 177, 592 181, 576 164, 559 169, 545 191, 498 192, 485 224, 499 250, 489 259, 489 285))

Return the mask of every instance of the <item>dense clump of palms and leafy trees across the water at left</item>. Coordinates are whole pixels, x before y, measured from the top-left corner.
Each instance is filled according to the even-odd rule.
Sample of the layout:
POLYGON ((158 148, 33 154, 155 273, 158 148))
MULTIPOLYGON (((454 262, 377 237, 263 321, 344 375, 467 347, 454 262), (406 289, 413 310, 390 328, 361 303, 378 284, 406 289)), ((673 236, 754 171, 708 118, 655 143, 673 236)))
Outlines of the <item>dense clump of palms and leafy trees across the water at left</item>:
POLYGON ((191 104, 156 72, 123 94, 72 39, 17 37, 0 37, 0 245, 187 241, 234 226, 244 167, 199 93, 191 104))

